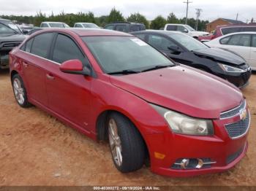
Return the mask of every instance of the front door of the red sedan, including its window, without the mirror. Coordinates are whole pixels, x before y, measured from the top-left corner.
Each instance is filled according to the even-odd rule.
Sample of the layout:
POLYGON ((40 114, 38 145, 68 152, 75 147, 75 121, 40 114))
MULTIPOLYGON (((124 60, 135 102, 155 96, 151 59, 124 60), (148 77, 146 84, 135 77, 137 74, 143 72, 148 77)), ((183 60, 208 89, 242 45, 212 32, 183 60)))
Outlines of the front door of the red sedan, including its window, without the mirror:
POLYGON ((88 128, 91 116, 91 77, 63 73, 59 66, 64 61, 78 59, 83 66, 90 68, 89 60, 75 40, 66 34, 56 36, 50 59, 52 62, 46 74, 50 110, 78 128, 88 128))

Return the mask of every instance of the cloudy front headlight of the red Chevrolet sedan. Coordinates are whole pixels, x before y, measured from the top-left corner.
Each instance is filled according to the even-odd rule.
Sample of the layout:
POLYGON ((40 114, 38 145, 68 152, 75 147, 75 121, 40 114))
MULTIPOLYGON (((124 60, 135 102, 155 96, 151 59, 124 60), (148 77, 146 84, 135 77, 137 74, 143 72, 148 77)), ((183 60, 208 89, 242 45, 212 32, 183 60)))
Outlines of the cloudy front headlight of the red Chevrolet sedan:
POLYGON ((174 133, 192 135, 192 136, 213 136, 214 125, 211 120, 197 119, 185 114, 173 112, 161 106, 151 104, 154 109, 162 115, 167 121, 174 133))

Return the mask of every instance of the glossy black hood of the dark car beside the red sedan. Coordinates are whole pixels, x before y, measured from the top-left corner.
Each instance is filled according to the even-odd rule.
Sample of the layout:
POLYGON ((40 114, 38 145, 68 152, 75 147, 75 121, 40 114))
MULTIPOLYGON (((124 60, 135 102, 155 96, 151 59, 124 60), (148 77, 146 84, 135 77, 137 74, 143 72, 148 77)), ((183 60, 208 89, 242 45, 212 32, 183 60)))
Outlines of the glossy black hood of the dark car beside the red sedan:
POLYGON ((193 51, 193 53, 199 57, 210 58, 214 61, 219 61, 222 63, 232 63, 235 65, 245 63, 244 58, 241 58, 241 56, 219 48, 206 48, 202 50, 195 50, 193 51))

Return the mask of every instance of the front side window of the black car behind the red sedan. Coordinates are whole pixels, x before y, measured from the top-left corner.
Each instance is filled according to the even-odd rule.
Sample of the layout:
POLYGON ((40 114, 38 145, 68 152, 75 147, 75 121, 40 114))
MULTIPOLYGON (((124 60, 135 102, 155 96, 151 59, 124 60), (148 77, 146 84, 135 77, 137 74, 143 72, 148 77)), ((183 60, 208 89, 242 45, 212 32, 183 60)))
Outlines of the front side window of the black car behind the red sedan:
POLYGON ((171 42, 169 39, 166 39, 163 36, 149 34, 148 35, 148 44, 151 44, 153 47, 158 50, 170 51, 168 47, 176 45, 174 42, 171 42))

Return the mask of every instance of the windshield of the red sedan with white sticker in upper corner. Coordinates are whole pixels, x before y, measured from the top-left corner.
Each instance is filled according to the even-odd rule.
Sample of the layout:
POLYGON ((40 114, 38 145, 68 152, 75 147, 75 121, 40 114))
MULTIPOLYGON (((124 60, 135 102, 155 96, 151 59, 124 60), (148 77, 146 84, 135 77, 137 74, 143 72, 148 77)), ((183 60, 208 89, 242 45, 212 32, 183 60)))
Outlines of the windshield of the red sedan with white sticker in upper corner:
POLYGON ((83 36, 82 39, 106 73, 175 66, 160 52, 133 36, 83 36))

